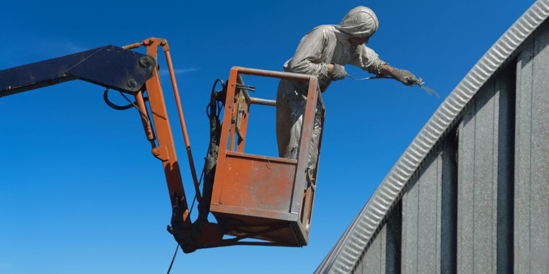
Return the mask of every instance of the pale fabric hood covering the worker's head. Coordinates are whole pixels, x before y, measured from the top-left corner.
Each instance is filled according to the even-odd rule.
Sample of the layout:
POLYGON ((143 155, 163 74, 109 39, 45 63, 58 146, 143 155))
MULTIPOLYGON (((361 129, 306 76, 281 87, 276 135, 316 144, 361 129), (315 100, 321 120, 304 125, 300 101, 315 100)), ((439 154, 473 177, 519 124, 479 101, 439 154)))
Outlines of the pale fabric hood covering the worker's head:
POLYGON ((379 26, 376 14, 373 10, 358 6, 351 9, 335 28, 352 37, 370 37, 379 26))

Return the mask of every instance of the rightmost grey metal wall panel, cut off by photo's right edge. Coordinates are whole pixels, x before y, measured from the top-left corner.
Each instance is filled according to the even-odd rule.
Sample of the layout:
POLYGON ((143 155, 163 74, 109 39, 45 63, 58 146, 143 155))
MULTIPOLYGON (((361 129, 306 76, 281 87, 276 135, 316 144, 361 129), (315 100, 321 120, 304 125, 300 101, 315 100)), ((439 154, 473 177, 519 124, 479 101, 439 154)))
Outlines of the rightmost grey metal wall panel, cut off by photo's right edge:
POLYGON ((516 273, 549 273, 549 33, 517 66, 514 250, 516 273))

